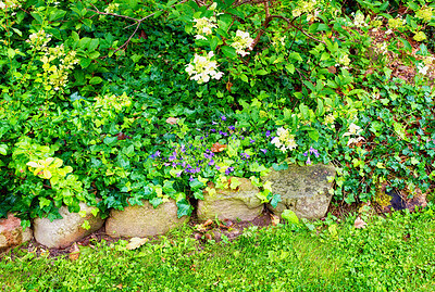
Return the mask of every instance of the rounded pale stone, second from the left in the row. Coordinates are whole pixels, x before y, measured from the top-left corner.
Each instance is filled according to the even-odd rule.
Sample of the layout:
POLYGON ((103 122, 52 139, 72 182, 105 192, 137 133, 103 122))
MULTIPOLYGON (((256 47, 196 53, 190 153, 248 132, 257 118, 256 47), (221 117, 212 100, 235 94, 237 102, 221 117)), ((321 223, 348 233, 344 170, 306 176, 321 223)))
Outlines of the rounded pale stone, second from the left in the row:
POLYGON ((104 223, 99 216, 94 216, 95 207, 80 203, 80 212, 86 212, 82 217, 78 213, 70 213, 66 206, 59 208, 62 219, 50 221, 48 218, 34 219, 35 240, 49 249, 64 249, 74 242, 100 229, 104 223), (82 225, 87 220, 90 228, 86 230, 82 225))

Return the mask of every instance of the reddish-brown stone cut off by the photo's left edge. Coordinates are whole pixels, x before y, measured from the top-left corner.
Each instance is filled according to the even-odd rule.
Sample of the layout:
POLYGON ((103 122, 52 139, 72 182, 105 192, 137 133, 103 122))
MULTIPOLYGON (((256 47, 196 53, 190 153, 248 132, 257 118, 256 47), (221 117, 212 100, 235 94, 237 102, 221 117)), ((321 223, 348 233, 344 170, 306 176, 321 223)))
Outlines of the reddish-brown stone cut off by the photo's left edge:
POLYGON ((8 218, 0 219, 0 252, 20 245, 32 240, 32 229, 23 230, 21 219, 13 214, 8 214, 8 218))

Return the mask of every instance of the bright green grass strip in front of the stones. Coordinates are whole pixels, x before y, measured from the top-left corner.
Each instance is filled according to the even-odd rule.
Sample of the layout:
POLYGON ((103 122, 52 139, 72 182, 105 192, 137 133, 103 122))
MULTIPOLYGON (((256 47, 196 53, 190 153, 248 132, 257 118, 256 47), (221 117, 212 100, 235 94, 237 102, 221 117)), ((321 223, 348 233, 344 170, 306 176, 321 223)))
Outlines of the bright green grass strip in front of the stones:
POLYGON ((363 218, 365 229, 355 216, 313 231, 250 228, 233 243, 200 244, 186 227, 135 251, 125 241, 80 247, 75 262, 21 252, 0 262, 0 290, 435 291, 433 217, 428 208, 363 218))

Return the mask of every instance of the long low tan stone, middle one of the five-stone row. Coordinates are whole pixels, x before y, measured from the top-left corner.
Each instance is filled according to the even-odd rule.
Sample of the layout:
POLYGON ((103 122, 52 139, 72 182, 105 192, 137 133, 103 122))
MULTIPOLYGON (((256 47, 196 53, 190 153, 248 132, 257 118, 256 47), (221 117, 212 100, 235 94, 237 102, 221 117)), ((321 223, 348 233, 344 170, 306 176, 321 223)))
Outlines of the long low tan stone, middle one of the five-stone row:
POLYGON ((177 205, 174 200, 160 204, 156 208, 142 201, 142 206, 127 206, 124 211, 112 210, 105 220, 105 233, 112 238, 144 238, 164 234, 182 226, 187 216, 177 217, 177 205))

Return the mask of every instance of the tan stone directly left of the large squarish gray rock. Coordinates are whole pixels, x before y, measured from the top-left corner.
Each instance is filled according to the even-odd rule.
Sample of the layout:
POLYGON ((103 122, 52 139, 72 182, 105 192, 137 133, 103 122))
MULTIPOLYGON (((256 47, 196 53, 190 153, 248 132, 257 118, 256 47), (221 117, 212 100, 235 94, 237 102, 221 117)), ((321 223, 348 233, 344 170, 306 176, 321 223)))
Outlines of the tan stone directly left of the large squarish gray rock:
MULTIPOLYGON (((233 179, 233 178, 232 178, 233 179)), ((198 202, 197 215, 201 220, 252 220, 263 212, 263 204, 257 196, 259 189, 247 178, 237 178, 237 189, 214 189, 214 193, 204 191, 204 199, 198 202)), ((214 186, 210 185, 210 188, 214 186)))

